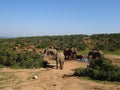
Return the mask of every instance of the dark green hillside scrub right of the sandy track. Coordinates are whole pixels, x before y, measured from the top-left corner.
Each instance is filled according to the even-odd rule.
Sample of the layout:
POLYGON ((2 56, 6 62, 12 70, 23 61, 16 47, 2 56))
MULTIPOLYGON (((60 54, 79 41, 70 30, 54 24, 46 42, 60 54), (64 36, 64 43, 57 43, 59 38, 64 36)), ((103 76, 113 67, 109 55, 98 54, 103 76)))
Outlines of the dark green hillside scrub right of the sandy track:
POLYGON ((94 41, 95 48, 101 50, 114 51, 120 49, 120 34, 94 34, 91 39, 94 41))

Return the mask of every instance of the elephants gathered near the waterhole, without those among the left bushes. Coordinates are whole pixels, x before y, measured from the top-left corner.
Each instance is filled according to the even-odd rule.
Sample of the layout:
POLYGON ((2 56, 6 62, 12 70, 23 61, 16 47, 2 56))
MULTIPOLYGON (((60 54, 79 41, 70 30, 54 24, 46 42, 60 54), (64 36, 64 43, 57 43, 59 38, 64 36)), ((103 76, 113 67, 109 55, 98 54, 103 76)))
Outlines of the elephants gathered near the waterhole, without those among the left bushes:
MULTIPOLYGON (((86 57, 84 57, 83 55, 79 55, 77 54, 77 49, 76 48, 66 48, 64 49, 63 52, 59 52, 57 49, 55 48, 49 48, 49 49, 45 49, 44 54, 46 54, 47 56, 55 56, 55 60, 56 60, 56 68, 58 68, 58 65, 60 65, 60 69, 63 69, 63 64, 65 60, 70 60, 70 59, 79 59, 82 60, 86 57)), ((87 59, 96 59, 96 58, 101 58, 103 57, 103 53, 101 51, 90 51, 87 55, 87 59)))

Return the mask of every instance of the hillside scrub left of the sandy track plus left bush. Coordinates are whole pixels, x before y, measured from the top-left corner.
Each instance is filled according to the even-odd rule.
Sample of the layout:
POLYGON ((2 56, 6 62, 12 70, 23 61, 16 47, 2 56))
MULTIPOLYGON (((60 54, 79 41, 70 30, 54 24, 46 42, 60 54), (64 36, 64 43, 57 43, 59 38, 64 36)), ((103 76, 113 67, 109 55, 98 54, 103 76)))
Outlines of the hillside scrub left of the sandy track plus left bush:
POLYGON ((14 68, 45 67, 47 62, 43 60, 43 56, 27 51, 27 46, 35 46, 35 49, 55 46, 61 50, 66 47, 77 47, 84 50, 86 45, 82 37, 83 35, 66 35, 0 39, 0 65, 14 68), (18 49, 14 49, 16 44, 20 44, 18 49))

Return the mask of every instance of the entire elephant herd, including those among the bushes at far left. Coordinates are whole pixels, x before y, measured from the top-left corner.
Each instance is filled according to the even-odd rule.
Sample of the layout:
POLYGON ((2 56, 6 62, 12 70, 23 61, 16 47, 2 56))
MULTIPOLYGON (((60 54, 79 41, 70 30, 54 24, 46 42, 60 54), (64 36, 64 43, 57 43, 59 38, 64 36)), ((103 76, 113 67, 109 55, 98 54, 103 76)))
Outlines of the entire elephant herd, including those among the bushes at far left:
MULTIPOLYGON (((20 48, 20 46, 21 46, 20 44, 16 44, 12 48, 12 50, 17 50, 18 48, 20 48)), ((52 46, 50 48, 46 48, 38 52, 35 49, 35 46, 27 46, 26 49, 23 51, 33 51, 35 53, 44 54, 45 56, 54 56, 56 60, 56 68, 58 68, 58 65, 60 65, 60 69, 63 69, 63 64, 65 60, 83 60, 87 58, 87 60, 89 61, 90 59, 103 57, 103 53, 101 51, 95 51, 95 50, 90 51, 87 57, 85 57, 83 55, 78 54, 77 49, 73 47, 65 48, 63 52, 60 52, 59 48, 52 46)))

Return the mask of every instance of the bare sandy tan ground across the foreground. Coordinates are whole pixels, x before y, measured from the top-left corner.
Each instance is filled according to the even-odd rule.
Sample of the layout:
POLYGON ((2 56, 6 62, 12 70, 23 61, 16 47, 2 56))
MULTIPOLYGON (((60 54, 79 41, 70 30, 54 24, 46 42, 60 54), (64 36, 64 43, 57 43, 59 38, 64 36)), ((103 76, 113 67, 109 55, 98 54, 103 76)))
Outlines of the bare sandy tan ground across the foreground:
MULTIPOLYGON (((48 59, 47 59, 48 60, 48 59)), ((55 65, 53 60, 49 63, 55 65)), ((97 82, 71 76, 75 68, 88 63, 66 61, 64 69, 0 69, 0 90, 120 90, 120 83, 97 82), (33 76, 38 79, 33 79, 33 76)))

